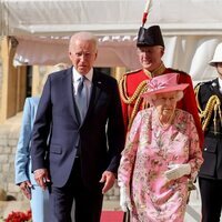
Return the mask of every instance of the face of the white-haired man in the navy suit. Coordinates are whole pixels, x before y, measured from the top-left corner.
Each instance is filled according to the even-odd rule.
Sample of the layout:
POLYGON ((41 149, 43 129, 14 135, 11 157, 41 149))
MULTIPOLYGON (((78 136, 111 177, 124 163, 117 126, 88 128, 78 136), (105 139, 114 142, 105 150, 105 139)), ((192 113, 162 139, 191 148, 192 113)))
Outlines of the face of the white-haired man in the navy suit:
POLYGON ((87 74, 97 59, 95 46, 91 41, 77 40, 70 48, 69 57, 75 70, 81 74, 87 74))

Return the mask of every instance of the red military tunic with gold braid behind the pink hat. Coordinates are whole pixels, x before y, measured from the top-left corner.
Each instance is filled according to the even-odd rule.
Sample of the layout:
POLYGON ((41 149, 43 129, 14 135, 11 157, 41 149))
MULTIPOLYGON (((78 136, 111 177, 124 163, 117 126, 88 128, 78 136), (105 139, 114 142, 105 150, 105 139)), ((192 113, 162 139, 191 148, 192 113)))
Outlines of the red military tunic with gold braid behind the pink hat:
POLYGON ((125 73, 120 80, 120 94, 122 103, 122 112, 124 119, 125 131, 128 131, 132 124, 134 117, 138 111, 148 107, 141 98, 141 94, 147 90, 147 80, 160 74, 165 74, 170 72, 180 73, 179 83, 189 83, 189 88, 184 91, 184 97, 178 102, 178 108, 190 112, 195 121, 195 127, 198 129, 200 145, 203 144, 203 131, 198 113, 198 107, 195 101, 195 94, 193 90, 193 84, 191 77, 182 71, 173 70, 171 68, 165 68, 162 63, 160 68, 150 73, 147 70, 140 69, 130 73, 125 73))

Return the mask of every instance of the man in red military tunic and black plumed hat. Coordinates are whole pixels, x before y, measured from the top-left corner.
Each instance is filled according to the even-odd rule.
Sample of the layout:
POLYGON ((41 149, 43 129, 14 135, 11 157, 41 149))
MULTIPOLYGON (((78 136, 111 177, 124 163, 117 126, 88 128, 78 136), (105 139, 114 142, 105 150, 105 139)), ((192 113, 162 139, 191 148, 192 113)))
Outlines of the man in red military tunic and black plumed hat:
POLYGON ((141 97, 147 90, 147 80, 160 74, 178 72, 180 73, 178 82, 189 83, 184 98, 178 103, 178 108, 183 109, 193 115, 199 132, 200 144, 202 147, 203 133, 191 77, 185 72, 173 70, 164 65, 162 61, 164 42, 160 27, 152 26, 148 29, 141 27, 138 33, 137 48, 142 69, 125 73, 121 78, 119 84, 125 132, 130 129, 138 111, 148 107, 141 97))

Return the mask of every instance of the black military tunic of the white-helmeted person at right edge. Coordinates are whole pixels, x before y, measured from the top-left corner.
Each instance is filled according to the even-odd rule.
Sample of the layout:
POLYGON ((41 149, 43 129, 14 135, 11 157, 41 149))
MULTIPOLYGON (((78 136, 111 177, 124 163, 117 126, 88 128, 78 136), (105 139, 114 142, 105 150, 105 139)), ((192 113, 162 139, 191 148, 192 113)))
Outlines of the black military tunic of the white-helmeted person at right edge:
MULTIPOLYGON (((201 83, 196 87, 200 87, 198 102, 202 111, 205 110, 206 103, 212 95, 216 95, 222 103, 222 93, 219 91, 218 79, 201 83)), ((204 163, 201 167, 199 175, 203 178, 222 179, 222 120, 219 113, 220 110, 222 110, 222 105, 216 110, 214 109, 215 107, 213 108, 209 124, 204 130, 204 163)))

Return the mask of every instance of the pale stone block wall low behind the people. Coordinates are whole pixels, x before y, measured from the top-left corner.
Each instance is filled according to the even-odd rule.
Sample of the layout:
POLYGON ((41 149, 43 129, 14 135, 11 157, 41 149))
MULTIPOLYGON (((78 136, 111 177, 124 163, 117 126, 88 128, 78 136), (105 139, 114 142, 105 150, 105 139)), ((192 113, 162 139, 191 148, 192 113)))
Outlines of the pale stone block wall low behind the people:
MULTIPOLYGON (((18 201, 24 200, 18 185, 14 185, 14 154, 19 138, 22 113, 9 119, 7 123, 0 124, 0 188, 8 196, 18 201)), ((104 196, 107 201, 119 200, 119 188, 115 184, 104 196)))

